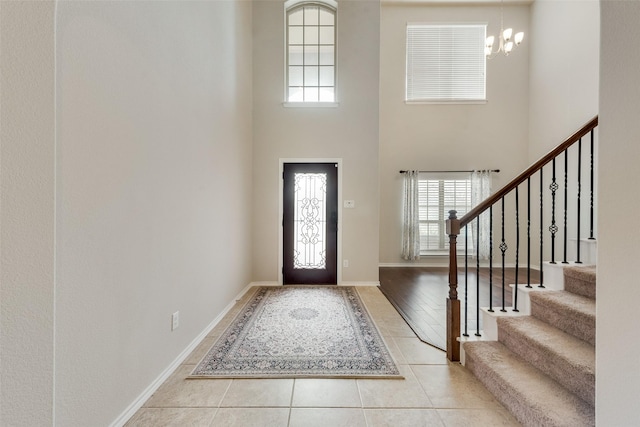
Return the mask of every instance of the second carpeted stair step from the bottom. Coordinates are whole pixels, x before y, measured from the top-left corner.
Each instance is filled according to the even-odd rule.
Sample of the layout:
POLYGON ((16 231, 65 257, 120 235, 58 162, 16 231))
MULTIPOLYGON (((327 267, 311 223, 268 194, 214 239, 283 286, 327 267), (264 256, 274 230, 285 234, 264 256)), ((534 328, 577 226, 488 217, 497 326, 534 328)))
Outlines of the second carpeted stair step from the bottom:
POLYGON ((498 319, 498 339, 509 350, 572 393, 595 405, 595 349, 533 316, 498 319))

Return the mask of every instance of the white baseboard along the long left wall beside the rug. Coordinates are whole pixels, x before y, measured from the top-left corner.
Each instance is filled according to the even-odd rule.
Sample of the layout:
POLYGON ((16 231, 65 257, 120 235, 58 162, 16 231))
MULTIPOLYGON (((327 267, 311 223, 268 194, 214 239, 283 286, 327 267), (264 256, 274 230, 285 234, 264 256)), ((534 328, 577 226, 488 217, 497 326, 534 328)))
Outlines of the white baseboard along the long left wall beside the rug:
MULTIPOLYGON (((227 313, 229 313, 229 311, 231 311, 231 309, 236 304, 236 302, 239 299, 241 299, 242 296, 245 293, 247 293, 247 291, 252 286, 256 286, 256 284, 255 283, 249 283, 247 286, 245 286, 245 288, 242 291, 240 291, 240 293, 229 304, 227 304, 227 306, 222 310, 222 312, 219 315, 217 315, 216 318, 213 319, 213 321, 206 328, 204 328, 204 330, 197 337, 195 337, 193 339, 193 341, 191 341, 191 343, 189 343, 189 345, 178 355, 178 357, 176 357, 175 360, 173 362, 171 362, 171 364, 169 366, 167 366, 167 368, 164 371, 162 371, 162 373, 151 384, 149 384, 149 386, 140 394, 140 396, 138 396, 127 407, 127 409, 125 409, 124 412, 122 414, 120 414, 120 416, 118 416, 118 418, 116 418, 115 421, 113 421, 110 424, 110 427, 121 427, 121 426, 124 426, 125 423, 127 421, 129 421, 129 419, 131 417, 133 417, 133 415, 140 408, 142 408, 142 405, 144 405, 144 403, 147 400, 149 400, 151 395, 153 393, 155 393, 156 390, 158 390, 158 388, 160 388, 162 383, 164 383, 167 380, 167 378, 169 378, 171 376, 171 374, 173 374, 173 372, 182 364, 182 362, 185 361, 185 359, 200 344, 200 342, 202 342, 202 340, 207 335, 209 335, 209 332, 211 332, 211 330, 213 328, 215 328, 218 323, 220 323, 220 321, 224 318, 224 316, 226 316, 227 313)), ((261 284, 259 286, 267 286, 267 285, 261 284)))

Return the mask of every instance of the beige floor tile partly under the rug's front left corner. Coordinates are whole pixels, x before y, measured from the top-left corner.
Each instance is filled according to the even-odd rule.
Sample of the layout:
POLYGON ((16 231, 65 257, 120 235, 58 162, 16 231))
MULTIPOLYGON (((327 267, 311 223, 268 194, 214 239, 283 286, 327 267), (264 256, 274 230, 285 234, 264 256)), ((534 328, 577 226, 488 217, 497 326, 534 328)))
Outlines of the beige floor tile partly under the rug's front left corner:
POLYGON ((186 379, 193 366, 181 365, 144 404, 146 407, 218 407, 231 380, 186 379))

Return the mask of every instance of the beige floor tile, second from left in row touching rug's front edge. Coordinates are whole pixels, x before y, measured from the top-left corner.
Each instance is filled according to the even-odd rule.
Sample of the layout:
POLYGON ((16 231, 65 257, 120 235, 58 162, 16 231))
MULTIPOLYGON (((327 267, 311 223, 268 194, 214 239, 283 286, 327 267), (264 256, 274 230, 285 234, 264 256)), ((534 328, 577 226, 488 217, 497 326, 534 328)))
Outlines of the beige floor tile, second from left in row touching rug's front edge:
POLYGON ((292 391, 292 379, 233 380, 220 407, 289 407, 292 391))

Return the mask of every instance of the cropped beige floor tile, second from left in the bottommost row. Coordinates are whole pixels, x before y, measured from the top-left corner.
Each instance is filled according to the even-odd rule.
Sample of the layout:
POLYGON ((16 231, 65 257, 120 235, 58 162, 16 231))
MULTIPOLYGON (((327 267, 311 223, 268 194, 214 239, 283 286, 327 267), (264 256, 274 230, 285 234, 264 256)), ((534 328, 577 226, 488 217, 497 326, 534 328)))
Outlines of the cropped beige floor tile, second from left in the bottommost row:
POLYGON ((287 427, 288 423, 289 408, 220 408, 211 426, 287 427))

